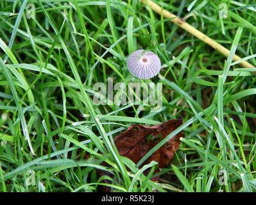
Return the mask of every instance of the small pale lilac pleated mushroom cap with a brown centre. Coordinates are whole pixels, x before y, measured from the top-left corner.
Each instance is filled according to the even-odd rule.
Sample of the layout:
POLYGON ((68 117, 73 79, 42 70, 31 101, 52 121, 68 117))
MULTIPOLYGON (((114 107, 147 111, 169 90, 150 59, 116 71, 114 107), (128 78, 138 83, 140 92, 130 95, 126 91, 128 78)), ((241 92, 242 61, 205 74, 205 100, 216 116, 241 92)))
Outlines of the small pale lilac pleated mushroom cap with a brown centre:
POLYGON ((141 79, 157 76, 161 69, 161 62, 157 54, 143 49, 134 51, 127 59, 130 73, 141 79))

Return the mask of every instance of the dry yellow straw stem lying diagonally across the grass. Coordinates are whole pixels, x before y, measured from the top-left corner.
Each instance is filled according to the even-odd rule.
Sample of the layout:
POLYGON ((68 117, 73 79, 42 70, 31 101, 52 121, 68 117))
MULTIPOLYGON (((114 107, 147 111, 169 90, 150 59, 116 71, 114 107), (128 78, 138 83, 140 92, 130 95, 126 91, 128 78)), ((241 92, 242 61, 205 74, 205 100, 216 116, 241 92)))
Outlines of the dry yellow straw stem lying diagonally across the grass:
MULTIPOLYGON (((151 9, 158 14, 163 14, 166 19, 170 19, 171 22, 175 23, 177 26, 180 26, 180 28, 183 28, 185 31, 191 33, 194 35, 194 37, 199 38, 206 44, 210 45, 216 51, 219 51, 220 53, 224 54, 226 57, 228 57, 228 54, 230 53, 230 50, 226 49, 223 45, 218 44, 216 41, 212 40, 212 38, 207 37, 204 33, 201 33, 201 31, 198 31, 198 29, 192 27, 190 24, 185 22, 185 20, 180 19, 178 16, 174 15, 173 13, 168 12, 167 10, 163 10, 158 4, 153 3, 153 1, 150 0, 141 0, 142 3, 149 5, 151 9)), ((234 55, 233 61, 241 60, 239 56, 236 54, 234 55)), ((246 61, 242 61, 239 63, 244 68, 253 68, 254 66, 246 61)))

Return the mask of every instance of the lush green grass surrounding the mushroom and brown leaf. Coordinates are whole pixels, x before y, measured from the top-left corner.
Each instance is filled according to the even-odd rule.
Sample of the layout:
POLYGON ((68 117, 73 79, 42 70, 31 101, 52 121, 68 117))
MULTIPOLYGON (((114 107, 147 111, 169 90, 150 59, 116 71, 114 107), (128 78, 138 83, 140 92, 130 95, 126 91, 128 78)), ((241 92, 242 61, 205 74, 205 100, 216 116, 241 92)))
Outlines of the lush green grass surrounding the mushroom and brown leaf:
POLYGON ((141 1, 0 2, 0 192, 256 191, 255 68, 239 65, 256 66, 255 4, 228 1, 228 19, 219 19, 222 1, 155 3, 229 49, 228 58, 141 1), (137 49, 158 54, 159 76, 131 76, 126 58, 137 49), (163 83, 162 108, 96 106, 93 86, 108 77, 163 83), (119 156, 113 139, 131 124, 179 117, 182 126, 137 165, 119 156), (168 167, 142 166, 180 131, 168 167))

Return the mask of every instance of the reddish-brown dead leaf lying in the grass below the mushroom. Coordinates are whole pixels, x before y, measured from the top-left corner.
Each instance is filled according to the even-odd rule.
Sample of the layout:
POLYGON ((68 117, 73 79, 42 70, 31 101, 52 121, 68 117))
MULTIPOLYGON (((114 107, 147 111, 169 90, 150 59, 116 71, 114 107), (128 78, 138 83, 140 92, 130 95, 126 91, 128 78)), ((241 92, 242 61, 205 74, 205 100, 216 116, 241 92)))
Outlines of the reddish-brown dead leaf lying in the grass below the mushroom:
MULTIPOLYGON (((114 142, 121 156, 126 156, 134 163, 138 163, 148 151, 171 132, 175 131, 181 124, 182 120, 169 120, 151 127, 140 124, 132 125, 126 131, 117 135, 114 142)), ((180 146, 180 138, 183 136, 183 132, 178 133, 153 153, 144 164, 148 164, 150 161, 157 161, 158 168, 166 167, 180 146)))

